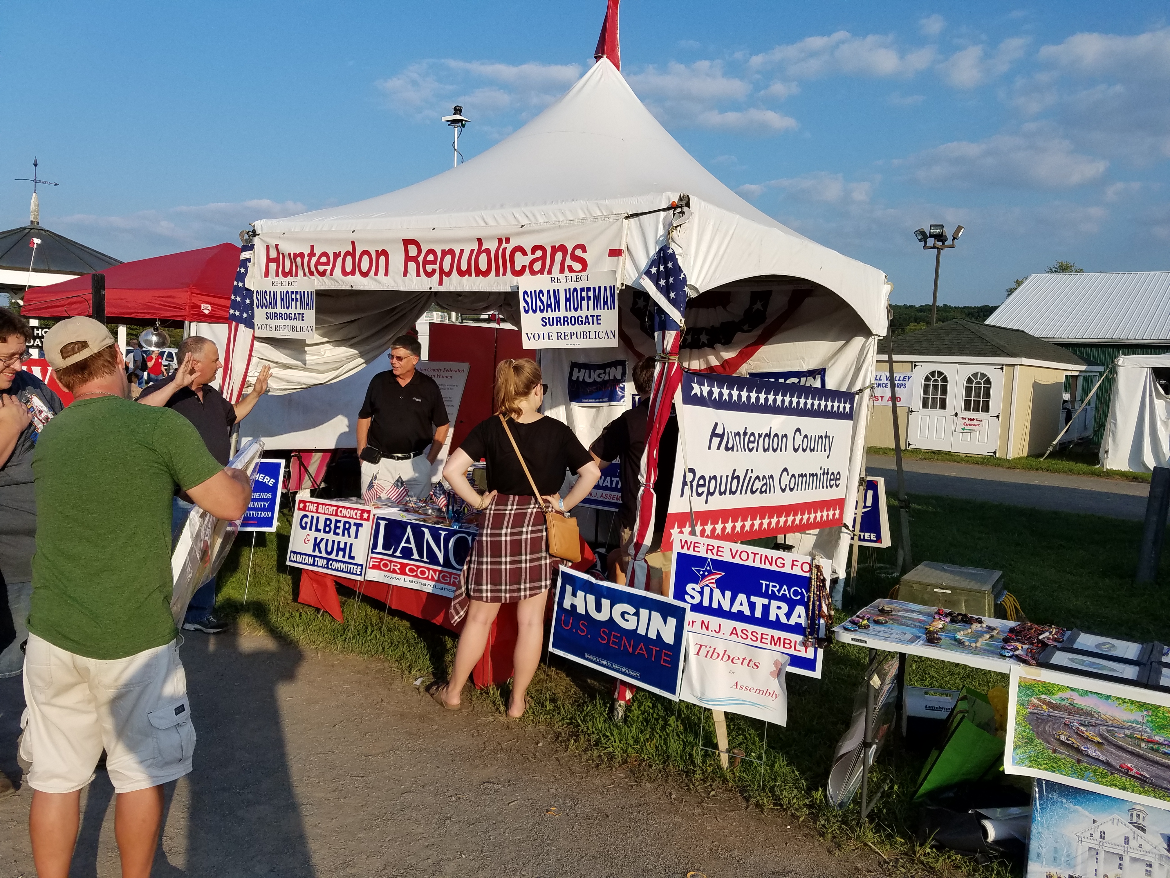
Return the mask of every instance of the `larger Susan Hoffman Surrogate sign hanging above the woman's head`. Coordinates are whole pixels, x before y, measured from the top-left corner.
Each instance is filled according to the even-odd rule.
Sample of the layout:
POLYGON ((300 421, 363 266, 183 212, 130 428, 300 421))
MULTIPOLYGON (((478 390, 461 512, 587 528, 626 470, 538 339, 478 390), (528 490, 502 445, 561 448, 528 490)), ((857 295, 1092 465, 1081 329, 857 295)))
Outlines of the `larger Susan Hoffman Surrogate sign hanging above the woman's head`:
POLYGON ((617 272, 524 277, 519 329, 528 350, 617 348, 617 272))

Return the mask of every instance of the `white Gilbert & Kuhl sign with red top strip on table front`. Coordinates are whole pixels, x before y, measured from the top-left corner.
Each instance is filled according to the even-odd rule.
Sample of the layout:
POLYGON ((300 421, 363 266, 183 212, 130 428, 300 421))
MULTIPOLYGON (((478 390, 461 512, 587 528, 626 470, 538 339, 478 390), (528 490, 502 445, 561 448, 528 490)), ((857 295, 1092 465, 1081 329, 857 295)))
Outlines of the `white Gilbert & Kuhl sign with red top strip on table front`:
POLYGON ((288 565, 364 579, 372 519, 367 506, 297 500, 288 565))

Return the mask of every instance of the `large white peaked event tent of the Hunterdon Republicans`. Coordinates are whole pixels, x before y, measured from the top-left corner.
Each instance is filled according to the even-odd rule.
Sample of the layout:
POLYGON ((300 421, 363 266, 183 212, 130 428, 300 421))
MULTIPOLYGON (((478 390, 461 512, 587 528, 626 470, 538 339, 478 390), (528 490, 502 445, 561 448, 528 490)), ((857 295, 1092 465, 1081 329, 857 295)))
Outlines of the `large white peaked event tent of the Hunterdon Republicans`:
MULTIPOLYGON (((587 444, 621 410, 569 403, 570 363, 626 357, 632 365, 653 354, 638 277, 665 240, 672 212, 662 208, 686 203, 682 196, 689 215, 672 240, 691 299, 680 362, 737 375, 824 370, 823 386, 868 387, 876 337, 887 328, 885 274, 735 194, 670 137, 605 57, 559 101, 466 164, 365 201, 253 224, 247 286, 301 283, 317 291, 316 336, 257 338, 253 368, 273 365, 275 393, 343 380, 376 362, 432 302, 463 314, 496 310, 518 324, 515 290, 526 273, 615 270, 625 284, 619 348, 537 357, 551 386, 545 412, 587 444)), ((264 411, 276 402, 261 400, 246 432, 263 434, 264 411)), ((855 503, 869 405, 856 411, 847 509, 855 503)), ((321 413, 322 423, 336 417, 321 413)), ((311 424, 300 426, 311 432, 311 424)), ((336 427, 333 437, 339 447, 352 445, 336 427)), ((817 548, 841 569, 842 531, 793 536, 798 551, 817 548)))

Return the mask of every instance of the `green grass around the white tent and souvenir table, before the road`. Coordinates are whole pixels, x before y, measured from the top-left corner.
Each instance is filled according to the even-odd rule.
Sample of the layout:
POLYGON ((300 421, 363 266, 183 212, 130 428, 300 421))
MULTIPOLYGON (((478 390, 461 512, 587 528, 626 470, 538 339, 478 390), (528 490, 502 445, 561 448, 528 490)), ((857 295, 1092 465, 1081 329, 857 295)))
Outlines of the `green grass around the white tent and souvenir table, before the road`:
MULTIPOLYGON (((1158 620, 1170 616, 1170 597, 1157 588, 1130 584, 1136 564, 1141 524, 1088 515, 1019 509, 948 498, 915 496, 911 507, 914 560, 945 561, 1004 570, 1009 589, 1037 622, 1082 626, 1094 633, 1152 639, 1158 620)), ((890 509, 892 520, 896 510, 890 509)), ((894 527, 896 531, 896 526, 894 527)), ((241 539, 221 575, 219 611, 245 630, 261 630, 301 647, 335 650, 387 661, 405 679, 443 678, 454 657, 455 639, 443 630, 380 604, 343 599, 346 622, 294 603, 294 583, 277 554, 288 547, 288 519, 281 533, 259 536, 247 604, 245 576, 250 539, 241 539)), ((895 548, 861 553, 858 594, 846 608, 855 610, 883 597, 889 579, 881 567, 894 562, 895 548)), ((1170 581, 1170 564, 1163 565, 1170 581)), ((763 764, 743 761, 724 773, 714 754, 700 750, 701 726, 707 746, 714 746, 710 718, 700 708, 674 704, 641 692, 626 722, 607 718, 611 679, 552 658, 542 666, 534 686, 526 722, 555 729, 565 746, 599 762, 622 764, 640 776, 672 777, 698 788, 730 784, 760 808, 780 808, 814 825, 831 845, 878 850, 887 871, 907 874, 966 871, 979 876, 1006 874, 1003 863, 976 866, 957 856, 924 849, 910 838, 910 798, 923 756, 886 749, 879 761, 879 783, 890 787, 868 822, 859 819, 860 795, 845 811, 825 801, 824 787, 833 748, 845 732, 853 697, 867 659, 865 650, 833 645, 825 658, 824 677, 812 680, 790 674, 789 726, 768 728, 764 748, 762 722, 728 715, 730 742, 763 764)), ((977 671, 932 659, 911 658, 909 682, 918 686, 982 691, 1006 685, 1004 674, 977 671)), ((477 695, 502 711, 497 691, 477 695)))

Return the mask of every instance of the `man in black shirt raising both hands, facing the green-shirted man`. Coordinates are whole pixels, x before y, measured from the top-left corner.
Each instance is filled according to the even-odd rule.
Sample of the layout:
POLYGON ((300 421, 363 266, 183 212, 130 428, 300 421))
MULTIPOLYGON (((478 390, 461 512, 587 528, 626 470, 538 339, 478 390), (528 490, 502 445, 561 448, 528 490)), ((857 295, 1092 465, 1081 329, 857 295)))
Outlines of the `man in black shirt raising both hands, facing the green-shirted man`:
MULTIPOLYGON (((222 365, 219 348, 214 342, 198 335, 190 336, 179 345, 177 359, 179 368, 167 378, 147 386, 138 397, 138 402, 174 409, 199 431, 212 457, 227 466, 228 458, 232 457, 232 426, 238 420, 243 420, 268 390, 271 369, 267 365, 261 366, 252 392, 233 405, 211 385, 222 365)), ((191 509, 192 503, 177 496, 174 523, 186 521, 191 509)), ((214 609, 215 578, 212 577, 191 596, 183 627, 187 631, 218 635, 227 625, 212 615, 214 609)))

